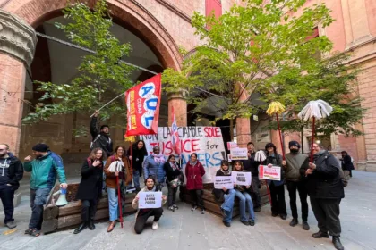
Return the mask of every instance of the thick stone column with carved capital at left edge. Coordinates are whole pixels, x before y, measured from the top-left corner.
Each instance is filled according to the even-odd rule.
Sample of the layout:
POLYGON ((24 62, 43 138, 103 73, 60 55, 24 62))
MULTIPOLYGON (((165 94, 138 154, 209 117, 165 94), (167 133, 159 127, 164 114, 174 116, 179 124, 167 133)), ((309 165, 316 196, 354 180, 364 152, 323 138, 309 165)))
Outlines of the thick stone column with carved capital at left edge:
POLYGON ((29 24, 0 10, 0 141, 15 154, 20 147, 25 78, 36 44, 35 30, 29 24))

